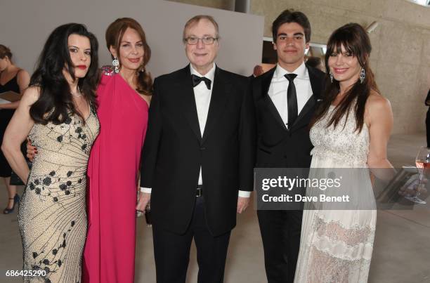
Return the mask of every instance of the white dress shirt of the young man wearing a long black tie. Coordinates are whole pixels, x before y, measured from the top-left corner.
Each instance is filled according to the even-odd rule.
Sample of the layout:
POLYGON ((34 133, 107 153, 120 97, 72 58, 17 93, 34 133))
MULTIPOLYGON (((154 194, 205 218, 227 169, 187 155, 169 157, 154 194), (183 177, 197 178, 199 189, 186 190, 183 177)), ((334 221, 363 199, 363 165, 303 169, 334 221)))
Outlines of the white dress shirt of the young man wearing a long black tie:
POLYGON ((273 73, 273 78, 271 81, 271 86, 268 90, 268 95, 270 96, 273 104, 275 105, 282 121, 288 126, 288 105, 287 105, 287 89, 289 81, 285 74, 297 74, 294 79, 294 86, 296 86, 297 93, 297 113, 299 114, 303 109, 306 102, 312 96, 311 81, 309 79, 308 69, 305 63, 294 70, 294 72, 288 72, 282 68, 279 64, 276 66, 275 72, 273 73))

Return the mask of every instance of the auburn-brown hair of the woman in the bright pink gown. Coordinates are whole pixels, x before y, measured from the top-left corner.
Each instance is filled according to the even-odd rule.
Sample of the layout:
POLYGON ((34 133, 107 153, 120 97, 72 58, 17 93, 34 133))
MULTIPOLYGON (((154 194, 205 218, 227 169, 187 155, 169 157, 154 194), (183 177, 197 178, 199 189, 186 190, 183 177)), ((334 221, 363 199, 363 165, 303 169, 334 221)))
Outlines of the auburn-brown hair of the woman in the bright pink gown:
MULTIPOLYGON (((107 49, 109 50, 110 46, 112 46, 119 53, 119 46, 127 28, 136 30, 143 43, 143 62, 141 67, 137 70, 138 84, 136 91, 145 96, 150 96, 152 93, 152 78, 150 73, 146 71, 145 66, 151 58, 151 48, 146 42, 145 32, 143 32, 142 26, 132 18, 119 18, 115 20, 106 29, 105 37, 107 49)), ((119 65, 121 65, 121 60, 119 58, 118 60, 119 65)))

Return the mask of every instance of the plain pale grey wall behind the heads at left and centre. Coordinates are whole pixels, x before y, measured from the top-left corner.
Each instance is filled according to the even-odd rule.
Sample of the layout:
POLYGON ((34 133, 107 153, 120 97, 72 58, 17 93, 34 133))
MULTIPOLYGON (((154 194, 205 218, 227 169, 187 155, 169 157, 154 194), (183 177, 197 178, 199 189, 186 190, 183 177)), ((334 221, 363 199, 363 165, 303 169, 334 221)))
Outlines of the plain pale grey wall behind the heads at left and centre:
POLYGON ((183 26, 198 14, 212 15, 219 23, 219 67, 252 74, 261 62, 263 17, 162 0, 0 0, 0 44, 11 48, 15 63, 31 74, 48 34, 59 25, 79 22, 98 38, 100 65, 110 65, 105 29, 117 18, 130 17, 145 30, 152 50, 148 70, 157 77, 188 63, 183 26))

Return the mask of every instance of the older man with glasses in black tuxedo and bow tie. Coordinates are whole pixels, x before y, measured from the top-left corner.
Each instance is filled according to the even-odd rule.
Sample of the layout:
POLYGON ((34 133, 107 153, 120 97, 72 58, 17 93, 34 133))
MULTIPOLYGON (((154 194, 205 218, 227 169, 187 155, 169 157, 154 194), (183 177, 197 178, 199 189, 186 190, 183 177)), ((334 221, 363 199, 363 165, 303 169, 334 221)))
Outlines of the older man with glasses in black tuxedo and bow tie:
POLYGON ((158 283, 185 282, 193 238, 198 282, 223 282, 230 231, 253 190, 249 81, 215 65, 218 40, 211 16, 188 20, 190 65, 154 81, 137 209, 150 197, 158 283))

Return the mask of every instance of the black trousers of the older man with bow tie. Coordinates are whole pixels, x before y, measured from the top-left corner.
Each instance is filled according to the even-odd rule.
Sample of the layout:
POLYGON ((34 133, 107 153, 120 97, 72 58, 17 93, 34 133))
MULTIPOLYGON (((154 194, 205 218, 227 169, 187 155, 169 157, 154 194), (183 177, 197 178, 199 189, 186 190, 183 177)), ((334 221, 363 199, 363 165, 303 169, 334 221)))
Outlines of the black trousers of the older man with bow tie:
POLYGON ((152 226, 157 283, 185 283, 191 242, 197 248, 198 283, 222 283, 230 232, 214 237, 204 216, 204 197, 196 197, 193 219, 183 235, 152 226))

